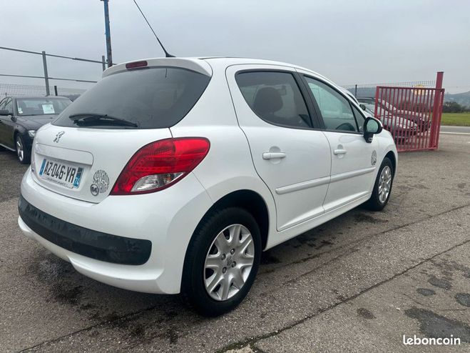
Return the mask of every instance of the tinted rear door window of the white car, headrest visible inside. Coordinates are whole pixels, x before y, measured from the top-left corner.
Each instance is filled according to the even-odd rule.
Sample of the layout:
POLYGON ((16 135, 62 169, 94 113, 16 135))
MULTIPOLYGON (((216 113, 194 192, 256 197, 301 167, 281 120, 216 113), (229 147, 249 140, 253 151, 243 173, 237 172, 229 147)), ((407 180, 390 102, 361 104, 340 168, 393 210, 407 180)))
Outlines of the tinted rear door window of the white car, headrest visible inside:
POLYGON ((252 111, 268 123, 311 127, 310 114, 292 74, 277 71, 242 72, 237 85, 252 111))

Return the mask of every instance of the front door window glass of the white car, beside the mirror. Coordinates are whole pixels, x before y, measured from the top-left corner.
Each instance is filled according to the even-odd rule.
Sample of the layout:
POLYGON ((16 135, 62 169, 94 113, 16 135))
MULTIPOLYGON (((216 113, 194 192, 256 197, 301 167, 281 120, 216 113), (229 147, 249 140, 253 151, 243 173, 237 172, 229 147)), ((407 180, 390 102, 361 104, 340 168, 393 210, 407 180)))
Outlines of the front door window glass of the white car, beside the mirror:
POLYGON ((327 130, 358 131, 349 101, 327 84, 310 77, 305 81, 317 101, 327 130))

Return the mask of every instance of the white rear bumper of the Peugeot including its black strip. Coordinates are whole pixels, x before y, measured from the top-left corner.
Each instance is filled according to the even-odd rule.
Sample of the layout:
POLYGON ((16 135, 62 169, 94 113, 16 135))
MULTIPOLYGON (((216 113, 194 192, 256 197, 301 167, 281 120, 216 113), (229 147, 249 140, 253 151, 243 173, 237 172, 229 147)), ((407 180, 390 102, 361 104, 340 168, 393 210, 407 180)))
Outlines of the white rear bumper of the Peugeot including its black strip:
POLYGON ((185 252, 213 202, 193 174, 162 192, 98 204, 21 182, 21 231, 81 274, 137 292, 180 292, 185 252))

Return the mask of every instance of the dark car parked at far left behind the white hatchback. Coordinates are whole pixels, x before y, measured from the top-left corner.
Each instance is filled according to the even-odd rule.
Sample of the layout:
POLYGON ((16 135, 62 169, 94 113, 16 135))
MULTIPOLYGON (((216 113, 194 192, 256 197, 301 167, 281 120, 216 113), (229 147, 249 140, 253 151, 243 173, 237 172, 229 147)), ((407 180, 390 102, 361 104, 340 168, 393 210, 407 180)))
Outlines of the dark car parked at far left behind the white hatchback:
POLYGON ((19 161, 28 164, 36 130, 71 102, 60 96, 6 96, 0 101, 0 146, 16 151, 19 161))

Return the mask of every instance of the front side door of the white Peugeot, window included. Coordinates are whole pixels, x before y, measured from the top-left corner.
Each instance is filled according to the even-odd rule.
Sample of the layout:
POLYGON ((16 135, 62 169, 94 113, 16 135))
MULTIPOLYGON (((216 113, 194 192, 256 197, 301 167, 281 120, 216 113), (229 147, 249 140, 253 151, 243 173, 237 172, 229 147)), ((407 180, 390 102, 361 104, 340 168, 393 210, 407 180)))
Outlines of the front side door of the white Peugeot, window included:
POLYGON ((338 89, 313 76, 303 77, 331 146, 331 181, 323 204, 328 212, 369 194, 378 139, 365 141, 364 115, 338 89))

